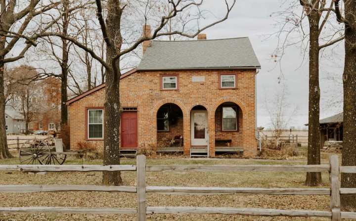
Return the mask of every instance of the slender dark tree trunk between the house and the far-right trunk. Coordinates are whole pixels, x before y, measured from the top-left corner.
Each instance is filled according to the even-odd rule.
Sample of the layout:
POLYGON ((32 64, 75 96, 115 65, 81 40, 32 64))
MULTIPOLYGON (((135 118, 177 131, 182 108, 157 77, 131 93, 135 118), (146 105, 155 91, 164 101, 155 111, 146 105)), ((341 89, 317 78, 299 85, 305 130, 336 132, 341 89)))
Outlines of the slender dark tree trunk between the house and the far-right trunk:
MULTIPOLYGON (((318 0, 313 0, 312 4, 318 8, 315 1, 318 0)), ((314 165, 320 164, 319 12, 311 10, 308 18, 310 27, 308 165, 314 165)), ((305 184, 321 185, 321 173, 307 173, 305 184)))

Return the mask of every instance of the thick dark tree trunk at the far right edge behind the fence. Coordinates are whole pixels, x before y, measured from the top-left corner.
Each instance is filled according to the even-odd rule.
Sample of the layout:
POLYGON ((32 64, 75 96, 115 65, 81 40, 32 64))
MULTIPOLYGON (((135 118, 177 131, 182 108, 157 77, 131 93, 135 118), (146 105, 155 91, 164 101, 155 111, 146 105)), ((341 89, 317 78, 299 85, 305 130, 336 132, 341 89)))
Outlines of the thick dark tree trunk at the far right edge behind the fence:
MULTIPOLYGON (((342 165, 356 166, 356 0, 345 1, 344 135, 342 165)), ((356 188, 356 174, 341 175, 342 188, 356 188)), ((356 194, 342 194, 341 208, 356 211, 356 194)))

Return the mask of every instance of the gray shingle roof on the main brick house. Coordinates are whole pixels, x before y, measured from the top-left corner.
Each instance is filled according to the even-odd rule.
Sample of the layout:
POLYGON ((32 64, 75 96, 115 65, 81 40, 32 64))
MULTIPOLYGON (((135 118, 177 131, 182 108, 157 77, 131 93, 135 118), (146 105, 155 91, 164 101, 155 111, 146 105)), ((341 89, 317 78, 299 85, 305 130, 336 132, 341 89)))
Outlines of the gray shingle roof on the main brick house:
POLYGON ((260 68, 248 37, 200 41, 152 41, 138 70, 260 68))

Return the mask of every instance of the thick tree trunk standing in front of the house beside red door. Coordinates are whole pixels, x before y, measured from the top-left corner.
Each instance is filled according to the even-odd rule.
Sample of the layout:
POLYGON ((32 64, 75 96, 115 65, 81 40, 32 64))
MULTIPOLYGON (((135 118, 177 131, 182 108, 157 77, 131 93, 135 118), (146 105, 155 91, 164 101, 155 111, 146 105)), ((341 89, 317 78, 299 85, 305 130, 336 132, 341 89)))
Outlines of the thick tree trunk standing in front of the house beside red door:
MULTIPOLYGON (((121 49, 120 19, 122 9, 120 1, 109 0, 108 16, 106 18, 107 34, 111 44, 106 48, 106 63, 112 68, 106 70, 105 104, 104 104, 104 165, 120 164, 120 120, 122 108, 120 105, 120 64, 113 63, 113 57, 121 49), (115 41, 115 43, 114 43, 115 41), (117 71, 115 71, 117 70, 117 71)), ((121 185, 120 172, 103 172, 104 185, 121 185)))

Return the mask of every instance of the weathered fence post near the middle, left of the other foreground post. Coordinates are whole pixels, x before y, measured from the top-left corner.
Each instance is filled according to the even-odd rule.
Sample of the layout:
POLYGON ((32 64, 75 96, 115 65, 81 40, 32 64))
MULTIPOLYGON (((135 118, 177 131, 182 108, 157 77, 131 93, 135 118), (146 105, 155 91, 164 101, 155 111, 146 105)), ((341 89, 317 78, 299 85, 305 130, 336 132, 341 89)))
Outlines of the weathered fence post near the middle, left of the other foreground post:
POLYGON ((146 221, 146 156, 136 156, 137 174, 137 220, 146 221))

